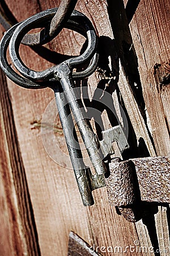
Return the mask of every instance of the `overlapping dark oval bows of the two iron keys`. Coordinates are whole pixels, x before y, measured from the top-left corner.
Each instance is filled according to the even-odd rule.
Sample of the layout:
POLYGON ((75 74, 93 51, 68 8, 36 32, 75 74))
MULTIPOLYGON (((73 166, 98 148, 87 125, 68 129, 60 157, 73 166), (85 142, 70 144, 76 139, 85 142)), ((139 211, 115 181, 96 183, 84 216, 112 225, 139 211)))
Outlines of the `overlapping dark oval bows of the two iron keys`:
MULTIPOLYGON (((1 40, 1 68, 12 81, 20 86, 23 86, 24 88, 40 89, 49 86, 52 87, 54 85, 54 69, 57 66, 48 68, 42 72, 36 72, 29 69, 20 59, 19 46, 22 38, 29 30, 39 26, 45 27, 56 14, 56 11, 57 8, 53 8, 31 16, 30 18, 24 20, 24 22, 20 22, 19 24, 16 24, 10 28, 10 30, 6 32, 1 40), (18 69, 18 71, 24 77, 16 73, 7 62, 6 52, 9 43, 11 60, 16 69, 18 69)), ((64 61, 71 69, 73 69, 91 60, 86 70, 82 72, 73 72, 73 79, 83 79, 84 77, 90 76, 91 73, 94 72, 98 60, 98 53, 96 53, 97 37, 94 27, 92 26, 90 20, 78 11, 73 11, 73 14, 66 23, 65 27, 79 32, 88 39, 87 49, 82 55, 72 57, 71 59, 64 61)))

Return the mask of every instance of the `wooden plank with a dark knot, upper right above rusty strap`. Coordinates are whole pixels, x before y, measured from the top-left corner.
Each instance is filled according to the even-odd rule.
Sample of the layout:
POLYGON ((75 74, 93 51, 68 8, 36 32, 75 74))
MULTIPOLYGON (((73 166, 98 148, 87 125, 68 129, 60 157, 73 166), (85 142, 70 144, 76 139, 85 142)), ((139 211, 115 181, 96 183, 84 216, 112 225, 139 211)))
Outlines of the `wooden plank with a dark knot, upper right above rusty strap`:
POLYGON ((165 65, 169 64, 170 56, 169 11, 169 1, 141 1, 130 23, 143 96, 158 155, 167 155, 170 150, 169 84, 160 88, 162 77, 167 74, 165 65))

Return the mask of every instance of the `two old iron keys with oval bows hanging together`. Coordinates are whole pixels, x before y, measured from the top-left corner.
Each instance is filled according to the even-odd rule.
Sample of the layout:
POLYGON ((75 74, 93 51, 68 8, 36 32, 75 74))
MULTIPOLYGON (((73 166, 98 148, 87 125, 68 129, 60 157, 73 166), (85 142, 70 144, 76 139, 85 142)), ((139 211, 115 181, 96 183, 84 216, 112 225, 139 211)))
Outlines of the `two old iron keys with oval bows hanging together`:
POLYGON ((50 87, 54 90, 58 114, 79 192, 84 206, 90 206, 94 204, 92 191, 105 186, 104 174, 108 171, 105 159, 107 159, 108 155, 114 154, 112 142, 118 142, 120 151, 129 146, 120 125, 103 131, 103 140, 99 141, 86 116, 82 101, 78 97, 79 92, 76 89, 74 80, 82 80, 90 76, 96 69, 99 57, 95 30, 85 15, 74 10, 65 25, 66 28, 79 32, 86 37, 88 44, 82 55, 72 57, 41 72, 29 69, 20 59, 19 46, 24 36, 33 28, 48 26, 56 11, 57 8, 42 11, 16 24, 6 32, 0 44, 1 68, 15 84, 24 88, 41 89, 50 87), (16 73, 8 64, 6 57, 8 46, 12 63, 22 76, 16 73), (87 64, 88 67, 83 71, 73 72, 73 69, 84 67, 87 64), (70 117, 73 117, 74 120, 70 117), (78 126, 92 166, 94 166, 94 175, 90 167, 87 167, 83 161, 77 135, 73 132, 74 121, 78 126))

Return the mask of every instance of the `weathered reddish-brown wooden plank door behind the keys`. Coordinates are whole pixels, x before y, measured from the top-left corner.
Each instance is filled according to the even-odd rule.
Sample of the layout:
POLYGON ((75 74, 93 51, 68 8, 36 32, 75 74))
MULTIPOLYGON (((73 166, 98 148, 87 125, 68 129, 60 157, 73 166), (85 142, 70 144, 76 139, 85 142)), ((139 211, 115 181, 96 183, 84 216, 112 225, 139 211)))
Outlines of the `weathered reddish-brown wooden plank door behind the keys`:
MULTIPOLYGON (((59 2, 6 0, 18 22, 59 2)), ((88 16, 99 35, 99 68, 83 85, 88 85, 90 97, 99 87, 111 94, 120 118, 118 104, 128 118, 130 149, 124 159, 168 155, 168 0, 83 0, 76 10, 88 16)), ((3 32, 1 26, 1 38, 3 32)), ((28 67, 40 71, 65 55, 79 54, 83 43, 79 34, 63 30, 45 48, 21 46, 20 54, 28 67)), ((54 98, 52 90, 21 88, 2 71, 0 86, 0 255, 67 255, 70 230, 98 246, 102 255, 154 255, 152 247, 155 255, 168 255, 169 207, 152 211, 149 206, 149 216, 130 223, 109 206, 105 188, 94 191, 95 205, 83 207, 74 173, 66 168, 68 153, 58 117, 55 133, 66 154, 60 165, 42 143, 41 119, 54 98)), ((103 125, 114 125, 105 111, 103 125)))

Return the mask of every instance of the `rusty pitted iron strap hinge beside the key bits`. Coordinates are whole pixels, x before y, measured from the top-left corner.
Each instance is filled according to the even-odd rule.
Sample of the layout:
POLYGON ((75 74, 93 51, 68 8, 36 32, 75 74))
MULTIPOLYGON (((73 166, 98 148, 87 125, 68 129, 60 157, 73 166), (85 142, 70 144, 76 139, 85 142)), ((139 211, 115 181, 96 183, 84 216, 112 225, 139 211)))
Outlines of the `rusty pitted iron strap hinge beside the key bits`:
POLYGON ((170 203, 170 162, 168 156, 137 158, 110 164, 106 179, 108 199, 119 207, 124 217, 135 221, 134 204, 146 202, 170 203))

